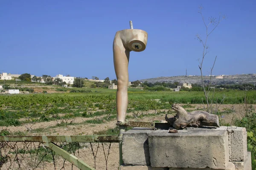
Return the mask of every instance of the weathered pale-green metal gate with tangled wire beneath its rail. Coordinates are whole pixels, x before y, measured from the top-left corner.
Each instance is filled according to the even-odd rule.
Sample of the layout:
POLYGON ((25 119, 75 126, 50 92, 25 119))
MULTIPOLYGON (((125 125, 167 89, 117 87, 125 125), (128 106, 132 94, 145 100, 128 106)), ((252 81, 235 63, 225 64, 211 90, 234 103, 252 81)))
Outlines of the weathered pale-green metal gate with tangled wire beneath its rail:
MULTIPOLYGON (((54 161, 54 154, 58 154, 64 160, 69 161, 71 164, 75 165, 81 170, 95 170, 93 167, 90 165, 86 164, 84 161, 78 159, 75 156, 76 149, 76 143, 77 142, 88 142, 90 143, 90 147, 93 151, 93 147, 91 143, 102 143, 103 151, 105 154, 104 146, 103 143, 110 143, 109 148, 108 148, 108 154, 109 150, 111 147, 111 143, 118 143, 121 141, 121 136, 118 135, 84 135, 84 136, 0 136, 0 169, 3 166, 3 164, 6 164, 9 162, 9 166, 14 164, 14 162, 17 162, 17 166, 20 167, 22 162, 19 162, 18 159, 18 154, 23 154, 24 153, 37 153, 37 154, 42 154, 39 153, 39 148, 40 147, 47 147, 48 149, 44 151, 43 158, 46 156, 48 153, 52 154, 53 161, 54 161), (18 144, 20 142, 23 142, 22 144, 18 144), (35 144, 37 143, 37 144, 35 144), (66 143, 71 144, 69 146, 69 150, 64 149, 64 145, 62 144, 57 144, 57 143, 66 143), (72 145, 73 143, 73 145, 72 145), (75 149, 73 148, 75 146, 75 149), (32 149, 33 147, 33 149, 32 149), (21 148, 21 149, 19 149, 21 148), (69 153, 69 152, 71 153, 69 153), (10 161, 10 154, 15 153, 15 158, 13 161, 10 161)), ((99 144, 98 144, 99 148, 99 144)), ((98 151, 97 148, 97 151, 98 151)), ((12 154, 13 155, 13 154, 12 154)), ((93 157, 96 159, 96 155, 93 152, 93 157)), ((108 157, 105 156, 106 162, 108 157)), ((38 164, 41 163, 43 159, 40 161, 37 160, 35 169, 38 167, 38 164)), ((55 166, 55 163, 54 163, 55 166)), ((95 163, 96 167, 96 163, 95 163)), ((34 169, 34 168, 33 168, 34 169)), ((106 163, 106 169, 107 169, 107 163, 106 163)))

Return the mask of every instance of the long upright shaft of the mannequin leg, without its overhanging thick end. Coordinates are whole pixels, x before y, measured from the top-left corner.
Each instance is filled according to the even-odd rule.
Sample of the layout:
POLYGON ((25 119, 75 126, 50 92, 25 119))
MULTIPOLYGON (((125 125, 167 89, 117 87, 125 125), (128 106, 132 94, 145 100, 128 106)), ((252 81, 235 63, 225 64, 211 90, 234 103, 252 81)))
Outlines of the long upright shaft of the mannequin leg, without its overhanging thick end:
POLYGON ((128 105, 128 63, 130 57, 130 51, 125 49, 120 43, 119 38, 114 40, 113 45, 113 57, 114 67, 117 78, 117 92, 116 92, 116 110, 117 110, 117 122, 125 122, 125 116, 128 105), (119 45, 116 45, 119 44, 119 45))

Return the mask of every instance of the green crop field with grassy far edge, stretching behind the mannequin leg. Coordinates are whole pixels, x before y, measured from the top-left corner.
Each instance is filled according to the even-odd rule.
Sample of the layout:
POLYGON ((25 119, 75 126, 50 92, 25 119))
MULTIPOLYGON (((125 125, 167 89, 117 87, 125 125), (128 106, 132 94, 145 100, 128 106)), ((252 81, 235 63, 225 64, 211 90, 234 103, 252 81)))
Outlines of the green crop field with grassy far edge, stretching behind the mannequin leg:
MULTIPOLYGON (((70 93, 68 89, 59 94, 0 95, 0 125, 13 125, 23 117, 47 119, 58 113, 93 116, 91 112, 105 110, 101 114, 116 115, 116 90, 81 89, 86 93, 70 93)), ((216 92, 214 101, 218 98, 218 102, 223 99, 223 104, 242 104, 244 97, 244 91, 216 92)), ((256 91, 247 91, 246 97, 247 103, 256 103, 256 91)), ((128 99, 128 112, 170 109, 172 103, 201 104, 202 99, 205 100, 203 92, 142 91, 134 88, 128 90, 128 99)))

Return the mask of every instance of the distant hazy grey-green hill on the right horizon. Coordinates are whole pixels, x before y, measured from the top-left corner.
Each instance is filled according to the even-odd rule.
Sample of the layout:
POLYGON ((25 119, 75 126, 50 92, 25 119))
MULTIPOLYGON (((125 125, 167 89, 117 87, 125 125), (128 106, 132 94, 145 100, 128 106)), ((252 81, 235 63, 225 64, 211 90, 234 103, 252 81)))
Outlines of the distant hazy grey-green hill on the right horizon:
MULTIPOLYGON (((204 76, 204 81, 209 81, 209 76, 204 76)), ((192 83, 201 84, 201 76, 173 76, 173 77, 157 77, 151 79, 141 79, 140 82, 180 82, 180 83, 192 83)), ((236 74, 236 75, 221 75, 212 76, 212 82, 216 84, 243 84, 252 83, 256 84, 256 74, 236 74)))

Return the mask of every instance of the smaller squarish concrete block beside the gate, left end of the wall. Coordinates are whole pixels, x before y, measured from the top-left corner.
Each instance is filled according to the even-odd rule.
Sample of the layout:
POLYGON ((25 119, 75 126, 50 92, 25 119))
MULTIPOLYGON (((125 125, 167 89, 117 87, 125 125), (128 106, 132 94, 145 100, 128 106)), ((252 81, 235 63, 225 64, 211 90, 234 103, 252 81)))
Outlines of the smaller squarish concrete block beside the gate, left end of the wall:
POLYGON ((131 129, 122 136, 122 159, 124 164, 150 165, 148 133, 153 129, 131 129))

